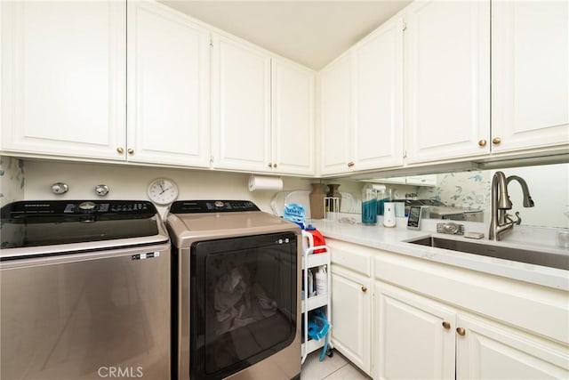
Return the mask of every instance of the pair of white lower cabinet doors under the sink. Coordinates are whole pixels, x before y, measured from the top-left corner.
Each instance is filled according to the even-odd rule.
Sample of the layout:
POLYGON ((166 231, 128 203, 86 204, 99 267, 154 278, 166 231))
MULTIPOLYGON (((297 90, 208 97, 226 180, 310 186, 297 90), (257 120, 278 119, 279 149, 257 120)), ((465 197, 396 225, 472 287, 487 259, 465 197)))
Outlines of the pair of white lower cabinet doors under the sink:
POLYGON ((569 376, 566 348, 491 319, 381 281, 375 306, 374 378, 569 376))

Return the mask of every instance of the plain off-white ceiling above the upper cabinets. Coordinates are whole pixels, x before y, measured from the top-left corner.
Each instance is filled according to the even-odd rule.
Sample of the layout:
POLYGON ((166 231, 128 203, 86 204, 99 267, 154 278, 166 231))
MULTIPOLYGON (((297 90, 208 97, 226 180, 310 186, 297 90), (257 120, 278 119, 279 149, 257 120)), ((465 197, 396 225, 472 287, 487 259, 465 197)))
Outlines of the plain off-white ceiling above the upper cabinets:
POLYGON ((161 3, 317 70, 411 0, 161 0, 161 3))

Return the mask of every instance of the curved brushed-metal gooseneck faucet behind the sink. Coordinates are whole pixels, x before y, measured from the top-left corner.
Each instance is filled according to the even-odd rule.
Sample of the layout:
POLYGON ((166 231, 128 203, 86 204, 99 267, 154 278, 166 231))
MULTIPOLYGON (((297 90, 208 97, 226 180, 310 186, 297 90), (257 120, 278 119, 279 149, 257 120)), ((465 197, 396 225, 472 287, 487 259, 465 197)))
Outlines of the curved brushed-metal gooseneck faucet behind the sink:
POLYGON ((511 219, 511 215, 506 214, 506 210, 511 210, 512 208, 512 202, 509 200, 508 195, 508 184, 514 180, 519 182, 522 187, 524 207, 534 206, 527 183, 522 177, 510 175, 506 178, 506 175, 502 172, 496 172, 492 178, 492 220, 488 232, 488 238, 491 240, 501 240, 501 235, 506 231, 512 230, 514 224, 522 222, 519 213, 516 213, 516 221, 511 219))

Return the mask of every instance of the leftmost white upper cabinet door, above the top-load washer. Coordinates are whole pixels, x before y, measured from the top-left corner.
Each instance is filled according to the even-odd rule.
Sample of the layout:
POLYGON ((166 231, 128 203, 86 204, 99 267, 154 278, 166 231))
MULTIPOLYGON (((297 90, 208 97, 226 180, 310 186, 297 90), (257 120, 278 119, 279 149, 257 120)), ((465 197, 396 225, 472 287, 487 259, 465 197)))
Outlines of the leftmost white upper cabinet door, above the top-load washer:
POLYGON ((1 6, 2 150, 124 160, 126 3, 1 6))

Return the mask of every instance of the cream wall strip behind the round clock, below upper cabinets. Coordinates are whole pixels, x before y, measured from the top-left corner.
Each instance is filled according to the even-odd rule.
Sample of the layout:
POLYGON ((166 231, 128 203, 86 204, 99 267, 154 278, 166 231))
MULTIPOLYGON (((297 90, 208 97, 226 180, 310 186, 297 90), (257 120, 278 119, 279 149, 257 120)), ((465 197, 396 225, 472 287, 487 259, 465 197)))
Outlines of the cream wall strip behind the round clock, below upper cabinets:
MULTIPOLYGON (((248 199, 270 213, 276 191, 249 191, 249 174, 210 170, 171 169, 143 166, 100 165, 49 161, 25 161, 25 199, 100 198, 94 193, 98 184, 110 188, 107 199, 148 199, 148 184, 166 177, 178 184, 179 199, 248 199), (69 191, 55 195, 52 183, 65 182, 69 191)), ((310 190, 314 180, 283 177, 284 190, 310 190)), ((166 207, 158 207, 164 214, 166 207)))

